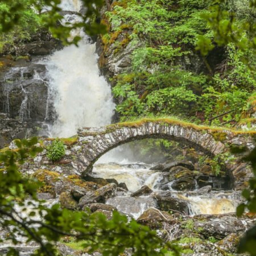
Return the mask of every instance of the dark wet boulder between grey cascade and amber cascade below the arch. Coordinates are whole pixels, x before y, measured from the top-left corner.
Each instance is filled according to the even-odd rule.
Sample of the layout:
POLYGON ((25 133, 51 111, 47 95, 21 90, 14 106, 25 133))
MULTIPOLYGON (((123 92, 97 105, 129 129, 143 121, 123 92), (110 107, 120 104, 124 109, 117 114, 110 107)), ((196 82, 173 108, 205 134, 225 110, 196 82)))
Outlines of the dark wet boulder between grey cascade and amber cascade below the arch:
POLYGON ((173 196, 163 196, 156 193, 153 197, 158 204, 158 209, 160 210, 178 210, 181 213, 190 213, 188 202, 183 199, 179 199, 175 194, 173 196))

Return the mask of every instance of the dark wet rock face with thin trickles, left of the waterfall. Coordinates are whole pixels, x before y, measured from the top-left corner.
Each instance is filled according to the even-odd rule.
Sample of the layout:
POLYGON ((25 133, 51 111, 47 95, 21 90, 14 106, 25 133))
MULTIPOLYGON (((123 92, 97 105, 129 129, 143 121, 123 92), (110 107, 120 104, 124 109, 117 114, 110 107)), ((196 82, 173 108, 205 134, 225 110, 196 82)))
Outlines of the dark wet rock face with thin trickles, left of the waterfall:
POLYGON ((22 121, 44 121, 48 85, 46 68, 38 64, 38 60, 18 59, 13 62, 13 67, 1 72, 0 112, 22 121))

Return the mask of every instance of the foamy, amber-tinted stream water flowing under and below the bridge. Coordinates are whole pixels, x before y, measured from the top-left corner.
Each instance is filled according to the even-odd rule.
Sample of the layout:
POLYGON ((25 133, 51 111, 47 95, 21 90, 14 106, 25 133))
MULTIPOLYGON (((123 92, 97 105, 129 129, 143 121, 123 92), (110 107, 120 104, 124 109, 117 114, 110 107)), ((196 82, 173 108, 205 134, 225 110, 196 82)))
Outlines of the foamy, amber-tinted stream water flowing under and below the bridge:
MULTIPOLYGON (((147 185, 153 192, 159 192, 163 172, 150 170, 150 165, 143 163, 96 163, 93 168, 95 177, 104 179, 115 179, 118 183, 125 183, 128 192, 122 193, 109 199, 106 203, 117 207, 121 212, 131 214, 138 218, 141 214, 151 207, 156 207, 155 201, 150 196, 130 197, 131 192, 135 192, 143 185, 147 185)), ((236 212, 236 207, 240 203, 237 201, 233 191, 212 191, 209 195, 196 195, 196 191, 191 191, 192 195, 184 195, 185 192, 170 191, 181 200, 185 200, 189 205, 190 214, 224 214, 236 212), (193 195, 195 193, 195 195, 193 195)))

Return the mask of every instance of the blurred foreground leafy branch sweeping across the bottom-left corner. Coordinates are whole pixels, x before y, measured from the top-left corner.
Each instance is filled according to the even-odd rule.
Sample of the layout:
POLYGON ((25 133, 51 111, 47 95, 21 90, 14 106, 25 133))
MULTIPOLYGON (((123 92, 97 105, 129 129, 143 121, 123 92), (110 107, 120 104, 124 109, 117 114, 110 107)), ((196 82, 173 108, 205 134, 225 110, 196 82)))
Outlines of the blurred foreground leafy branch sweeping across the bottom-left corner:
MULTIPOLYGON (((179 255, 177 248, 164 243, 156 232, 135 220, 128 222, 118 212, 113 212, 112 220, 107 221, 104 214, 72 212, 60 209, 59 204, 51 208, 44 206, 44 201, 36 198, 42 184, 18 171, 18 164, 42 151, 36 143, 36 138, 16 141, 16 150, 0 155, 0 164, 5 166, 0 172, 0 225, 12 227, 9 239, 14 244, 19 243, 18 236, 23 237, 26 242, 38 243, 39 249, 33 255, 51 256, 57 255, 55 243, 63 236, 70 236, 82 240, 89 253, 100 250, 103 255, 119 255, 125 249, 132 249, 133 255, 164 255, 167 249, 172 249, 179 255)), ((10 248, 8 255, 18 252, 10 248)))

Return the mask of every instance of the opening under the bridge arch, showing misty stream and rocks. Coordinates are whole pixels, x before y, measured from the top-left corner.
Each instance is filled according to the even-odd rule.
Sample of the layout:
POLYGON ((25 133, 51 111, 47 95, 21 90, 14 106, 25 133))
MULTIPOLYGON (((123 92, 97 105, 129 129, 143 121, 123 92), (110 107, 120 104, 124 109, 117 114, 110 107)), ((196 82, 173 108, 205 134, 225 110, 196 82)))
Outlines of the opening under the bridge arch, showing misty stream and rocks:
POLYGON ((212 154, 199 148, 157 136, 122 142, 101 154, 89 176, 125 183, 131 192, 143 185, 153 191, 191 191, 205 186, 232 189, 229 172, 216 176, 210 162, 212 154))

